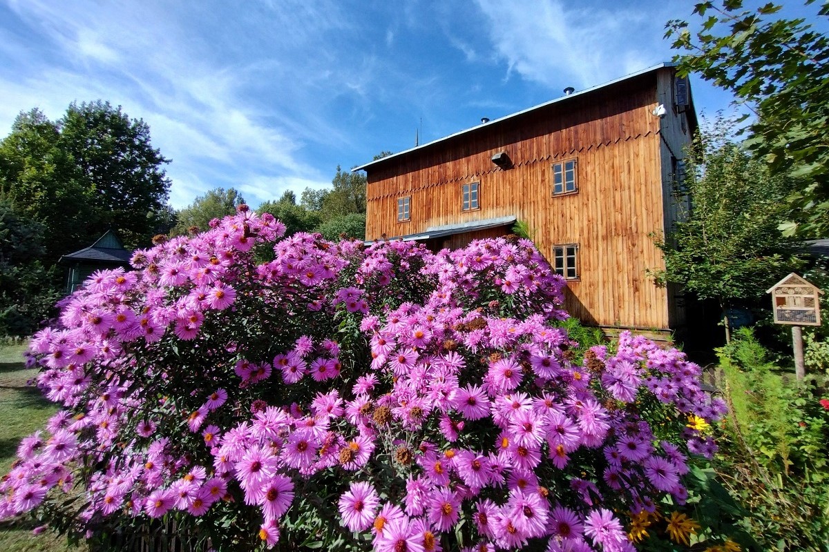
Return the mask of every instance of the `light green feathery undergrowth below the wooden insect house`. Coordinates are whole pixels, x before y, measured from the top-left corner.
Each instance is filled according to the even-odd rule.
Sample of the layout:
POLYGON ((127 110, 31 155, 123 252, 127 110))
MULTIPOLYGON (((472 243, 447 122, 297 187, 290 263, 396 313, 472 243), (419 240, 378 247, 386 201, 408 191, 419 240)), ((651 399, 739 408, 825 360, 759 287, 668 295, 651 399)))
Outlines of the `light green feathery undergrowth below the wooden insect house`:
POLYGON ((751 512, 764 550, 829 550, 826 388, 781 372, 750 329, 718 355, 730 407, 715 465, 725 487, 751 512))

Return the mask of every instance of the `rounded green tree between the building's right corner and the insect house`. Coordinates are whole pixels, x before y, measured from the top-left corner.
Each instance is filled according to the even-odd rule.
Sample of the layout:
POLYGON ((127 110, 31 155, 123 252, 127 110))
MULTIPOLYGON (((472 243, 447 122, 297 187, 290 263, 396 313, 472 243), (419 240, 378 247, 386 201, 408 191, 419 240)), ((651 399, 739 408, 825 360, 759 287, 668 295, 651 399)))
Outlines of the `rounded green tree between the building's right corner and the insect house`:
POLYGON ((698 138, 687 163, 682 188, 691 209, 657 241, 665 257, 657 282, 681 284, 724 307, 764 295, 796 266, 777 229, 788 213, 785 180, 733 142, 698 138))

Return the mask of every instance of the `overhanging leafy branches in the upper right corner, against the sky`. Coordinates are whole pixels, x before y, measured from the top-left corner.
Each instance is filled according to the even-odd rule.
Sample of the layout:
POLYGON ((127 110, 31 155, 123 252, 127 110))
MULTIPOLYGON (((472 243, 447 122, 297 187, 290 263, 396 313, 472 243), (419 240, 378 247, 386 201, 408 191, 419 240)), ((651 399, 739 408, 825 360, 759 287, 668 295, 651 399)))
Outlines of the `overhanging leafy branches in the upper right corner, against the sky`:
MULTIPOLYGON (((815 17, 827 17, 829 2, 819 6, 815 17)), ((701 30, 671 21, 666 36, 683 51, 676 57, 681 71, 700 74, 754 110, 746 146, 773 175, 798 179, 788 194, 793 216, 782 229, 821 237, 829 233, 829 41, 805 19, 778 17, 780 9, 700 2, 694 14, 701 30)))

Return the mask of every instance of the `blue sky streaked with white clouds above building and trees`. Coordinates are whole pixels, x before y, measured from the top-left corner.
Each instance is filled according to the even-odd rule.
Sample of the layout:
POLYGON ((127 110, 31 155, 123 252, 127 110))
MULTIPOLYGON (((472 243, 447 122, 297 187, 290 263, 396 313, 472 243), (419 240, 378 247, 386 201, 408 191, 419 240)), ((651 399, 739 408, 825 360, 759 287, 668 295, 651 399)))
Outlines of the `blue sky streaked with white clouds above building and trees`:
MULTIPOLYGON (((108 100, 172 159, 170 201, 256 206, 671 59, 675 0, 0 0, 0 137, 20 111, 108 100)), ((692 81, 698 112, 730 97, 692 81)))

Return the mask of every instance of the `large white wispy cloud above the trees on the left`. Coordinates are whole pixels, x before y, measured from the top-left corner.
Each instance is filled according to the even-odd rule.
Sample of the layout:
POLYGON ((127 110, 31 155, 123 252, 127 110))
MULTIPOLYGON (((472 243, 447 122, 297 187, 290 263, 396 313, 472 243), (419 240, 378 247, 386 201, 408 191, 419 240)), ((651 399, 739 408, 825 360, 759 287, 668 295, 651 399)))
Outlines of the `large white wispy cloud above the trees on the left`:
MULTIPOLYGON (((43 36, 45 46, 28 59, 21 59, 21 50, 10 52, 29 70, 22 79, 0 74, 3 127, 33 106, 58 118, 74 100, 104 98, 121 104, 126 113, 148 122, 153 145, 172 158, 167 174, 173 181, 175 207, 211 187, 229 187, 233 180, 245 180, 252 204, 281 194, 284 186, 317 186, 324 181, 321 171, 303 160, 303 137, 332 140, 342 132, 313 109, 315 98, 307 94, 313 83, 304 82, 300 90, 295 76, 291 80, 295 60, 273 62, 279 50, 260 53, 259 64, 256 56, 243 65, 216 60, 207 37, 196 36, 175 13, 153 2, 57 5, 26 0, 10 2, 9 7, 43 36), (263 78, 261 69, 269 63, 285 75, 280 84, 288 90, 282 94, 282 99, 289 98, 288 105, 269 106, 249 94, 250 83, 263 78)), ((338 24, 336 10, 317 17, 320 14, 299 2, 294 7, 280 26, 283 32, 272 29, 264 34, 269 46, 284 44, 290 50, 313 40, 319 26, 338 24)), ((274 12, 282 9, 274 7, 274 12)), ((324 71, 319 74, 325 81, 324 71)), ((365 94, 366 82, 360 76, 349 75, 342 86, 352 94, 365 94)))

